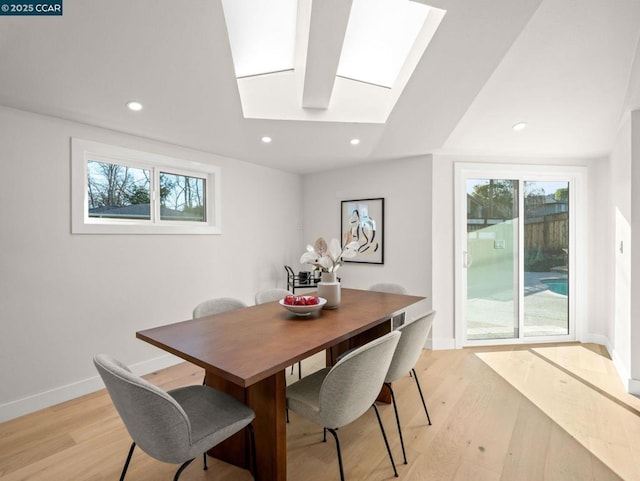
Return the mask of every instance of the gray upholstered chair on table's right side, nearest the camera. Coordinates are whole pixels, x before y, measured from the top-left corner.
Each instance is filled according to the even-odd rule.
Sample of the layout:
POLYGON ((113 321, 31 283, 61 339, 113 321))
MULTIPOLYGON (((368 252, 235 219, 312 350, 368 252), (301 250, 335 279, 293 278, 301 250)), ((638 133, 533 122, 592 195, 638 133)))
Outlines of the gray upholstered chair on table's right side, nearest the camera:
POLYGON ((400 332, 392 331, 354 349, 338 361, 287 387, 287 408, 329 431, 336 442, 340 479, 344 481, 338 428, 346 426, 373 407, 387 453, 397 477, 387 435, 375 405, 391 365, 400 332))

